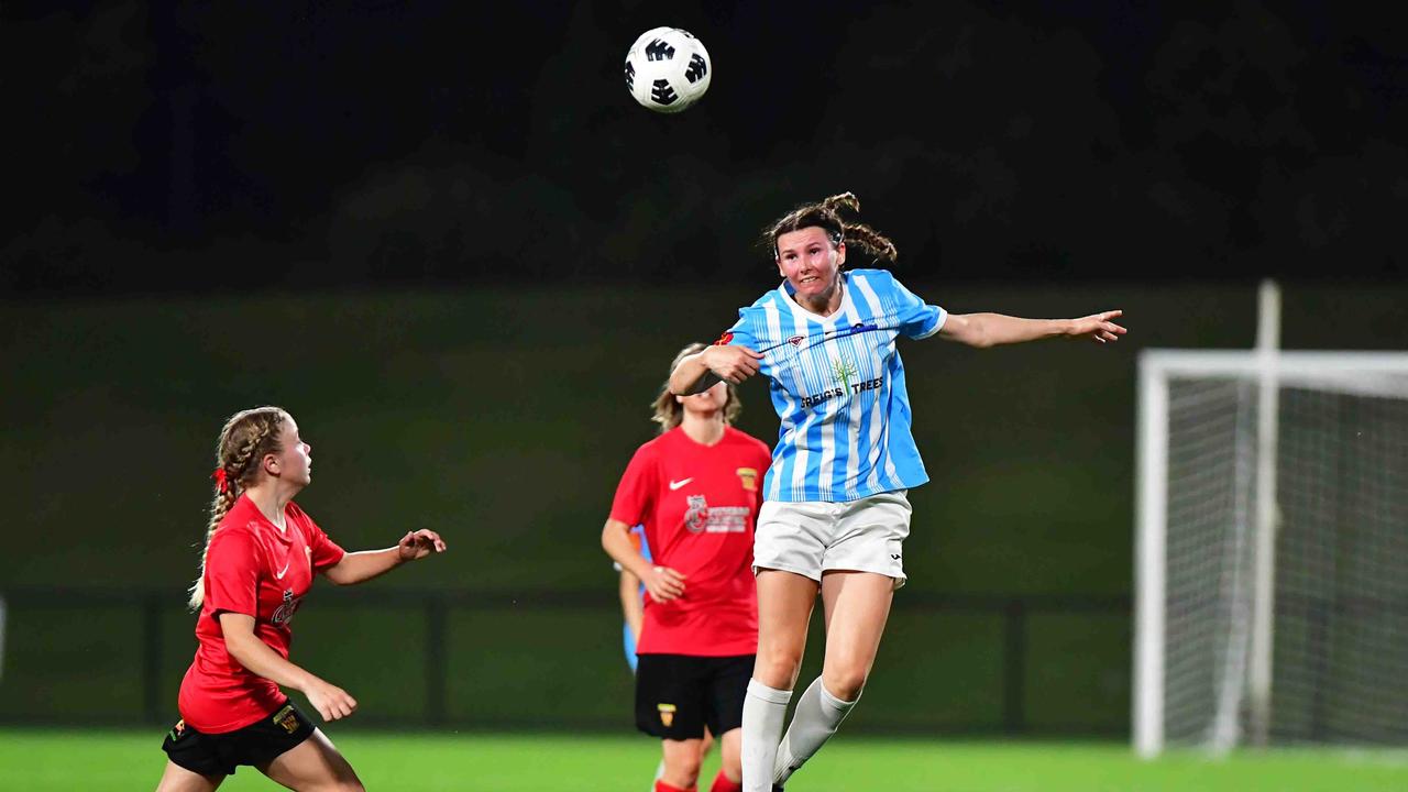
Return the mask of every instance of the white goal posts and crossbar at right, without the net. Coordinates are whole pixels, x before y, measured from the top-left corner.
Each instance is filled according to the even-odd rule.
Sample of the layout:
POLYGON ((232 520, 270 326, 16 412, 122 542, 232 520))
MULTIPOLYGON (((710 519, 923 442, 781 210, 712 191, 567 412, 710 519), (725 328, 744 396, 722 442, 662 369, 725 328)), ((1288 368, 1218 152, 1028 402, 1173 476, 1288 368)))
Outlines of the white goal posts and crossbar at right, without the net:
MULTIPOLYGON (((1263 293, 1263 307, 1264 299, 1263 293)), ((1247 737, 1253 744, 1264 744, 1270 724, 1278 388, 1307 385, 1363 396, 1408 396, 1408 354, 1278 351, 1274 333, 1264 330, 1263 324, 1257 349, 1146 349, 1139 355, 1132 726, 1135 751, 1145 758, 1157 755, 1164 747, 1169 382, 1188 376, 1226 378, 1256 382, 1260 389, 1256 586, 1247 668, 1247 737)))

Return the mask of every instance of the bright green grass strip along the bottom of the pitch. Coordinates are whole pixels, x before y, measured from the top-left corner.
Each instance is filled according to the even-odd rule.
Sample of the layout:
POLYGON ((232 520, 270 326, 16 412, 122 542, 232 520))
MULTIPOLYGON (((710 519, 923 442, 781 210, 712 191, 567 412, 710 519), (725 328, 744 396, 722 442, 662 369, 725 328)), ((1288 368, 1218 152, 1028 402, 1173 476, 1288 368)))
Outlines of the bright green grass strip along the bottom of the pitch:
MULTIPOLYGON (((152 789, 165 755, 159 730, 0 730, 0 791, 152 789)), ((334 738, 369 789, 648 792, 658 748, 649 738, 383 734, 334 738)), ((703 788, 717 771, 705 764, 703 788)), ((241 769, 222 791, 277 789, 241 769)), ((790 792, 1404 792, 1408 753, 1242 753, 1226 760, 1135 760, 1115 743, 835 740, 790 792)))

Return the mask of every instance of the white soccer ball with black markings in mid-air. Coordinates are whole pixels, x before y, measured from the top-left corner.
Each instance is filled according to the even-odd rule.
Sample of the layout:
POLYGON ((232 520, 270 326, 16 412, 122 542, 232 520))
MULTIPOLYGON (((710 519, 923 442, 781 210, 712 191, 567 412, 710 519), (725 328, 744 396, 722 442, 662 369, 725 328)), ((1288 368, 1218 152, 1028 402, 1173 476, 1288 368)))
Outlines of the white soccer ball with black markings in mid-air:
POLYGON ((656 113, 679 113, 698 101, 712 70, 704 44, 680 28, 648 30, 625 54, 627 90, 656 113))

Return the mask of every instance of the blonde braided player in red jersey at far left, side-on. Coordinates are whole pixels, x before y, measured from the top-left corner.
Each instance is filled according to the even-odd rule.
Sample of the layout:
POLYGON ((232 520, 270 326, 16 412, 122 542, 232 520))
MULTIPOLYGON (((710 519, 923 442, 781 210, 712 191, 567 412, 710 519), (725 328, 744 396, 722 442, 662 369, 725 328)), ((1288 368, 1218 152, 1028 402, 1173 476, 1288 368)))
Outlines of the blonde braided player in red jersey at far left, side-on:
POLYGON ((196 658, 182 679, 180 720, 162 750, 158 792, 210 792, 238 765, 290 789, 359 791, 352 765, 279 686, 301 691, 322 720, 356 712, 346 691, 289 661, 293 620, 321 574, 369 581, 442 552, 428 530, 396 547, 346 552, 293 502, 313 481, 313 447, 279 407, 237 413, 215 445, 215 499, 200 578, 191 586, 196 658))

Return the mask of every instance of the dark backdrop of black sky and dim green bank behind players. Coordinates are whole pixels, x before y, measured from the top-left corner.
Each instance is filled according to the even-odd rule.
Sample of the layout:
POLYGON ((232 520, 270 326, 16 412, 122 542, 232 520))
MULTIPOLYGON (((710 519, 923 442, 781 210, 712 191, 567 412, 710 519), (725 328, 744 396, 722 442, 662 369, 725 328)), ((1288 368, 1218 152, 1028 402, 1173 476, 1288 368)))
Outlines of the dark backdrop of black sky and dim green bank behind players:
POLYGON ((1139 349, 1249 347, 1267 276, 1290 348, 1408 345, 1378 8, 0 6, 0 719, 168 719, 215 433, 279 403, 335 538, 452 544, 301 612, 358 722, 628 729, 611 492, 759 228, 852 190, 931 302, 1131 335, 904 347, 934 483, 848 729, 1121 733, 1139 349), (680 116, 621 79, 659 24, 714 61, 680 116))

